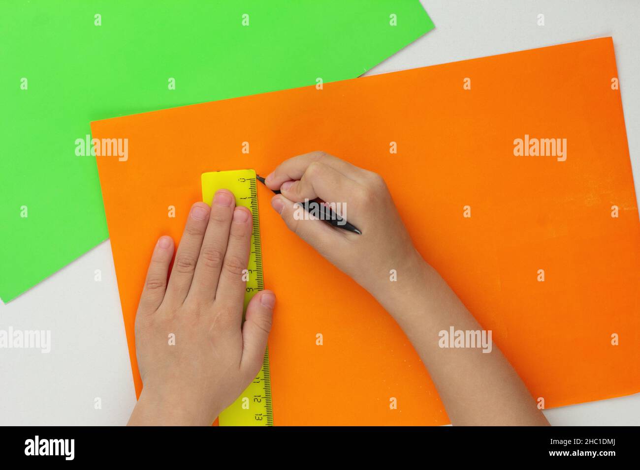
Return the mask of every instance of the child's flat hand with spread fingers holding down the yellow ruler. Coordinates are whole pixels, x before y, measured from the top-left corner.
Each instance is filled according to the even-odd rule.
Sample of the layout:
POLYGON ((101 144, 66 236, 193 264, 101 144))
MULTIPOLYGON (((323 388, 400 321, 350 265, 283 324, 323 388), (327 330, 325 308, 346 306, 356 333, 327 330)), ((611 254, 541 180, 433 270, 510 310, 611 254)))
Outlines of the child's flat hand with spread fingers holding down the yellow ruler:
POLYGON ((211 425, 260 370, 275 295, 253 297, 242 325, 252 217, 233 194, 191 207, 175 256, 154 249, 136 315, 143 391, 130 425, 211 425))

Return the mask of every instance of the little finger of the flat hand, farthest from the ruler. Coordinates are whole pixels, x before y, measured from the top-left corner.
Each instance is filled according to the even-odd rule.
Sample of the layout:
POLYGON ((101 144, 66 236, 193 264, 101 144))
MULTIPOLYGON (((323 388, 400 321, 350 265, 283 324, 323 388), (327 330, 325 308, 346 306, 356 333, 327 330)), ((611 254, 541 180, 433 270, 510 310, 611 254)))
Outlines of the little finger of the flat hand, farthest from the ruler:
POLYGON ((173 258, 172 238, 160 237, 154 248, 154 253, 151 255, 145 287, 140 297, 139 311, 153 313, 162 303, 171 258, 173 258))

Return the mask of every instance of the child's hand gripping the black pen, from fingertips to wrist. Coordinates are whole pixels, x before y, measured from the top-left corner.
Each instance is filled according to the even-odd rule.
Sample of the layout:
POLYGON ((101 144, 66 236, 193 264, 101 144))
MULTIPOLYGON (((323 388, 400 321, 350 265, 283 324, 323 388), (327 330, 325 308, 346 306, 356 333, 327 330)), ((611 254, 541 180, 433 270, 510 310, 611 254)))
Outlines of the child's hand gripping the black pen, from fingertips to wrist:
POLYGON ((311 152, 282 162, 266 185, 282 191, 271 205, 287 226, 379 299, 389 290, 392 269, 410 279, 424 267, 380 175, 311 152), (296 220, 294 203, 316 198, 344 205, 344 219, 362 235, 319 220, 296 220))

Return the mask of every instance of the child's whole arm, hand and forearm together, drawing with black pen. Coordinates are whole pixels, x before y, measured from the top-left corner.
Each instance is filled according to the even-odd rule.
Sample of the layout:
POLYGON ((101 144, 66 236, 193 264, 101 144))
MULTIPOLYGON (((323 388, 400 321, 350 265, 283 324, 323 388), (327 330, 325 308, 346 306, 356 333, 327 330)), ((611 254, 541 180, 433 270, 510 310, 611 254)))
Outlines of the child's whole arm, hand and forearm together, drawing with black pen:
POLYGON ((280 164, 266 185, 282 191, 271 205, 287 226, 394 317, 428 368, 454 425, 548 425, 495 345, 491 354, 472 347, 440 347, 438 332, 449 331, 451 325, 462 331, 482 327, 413 247, 380 176, 312 152, 280 164), (296 220, 294 202, 316 198, 346 204, 344 218, 362 235, 324 221, 296 220), (396 282, 390 282, 392 269, 396 282))

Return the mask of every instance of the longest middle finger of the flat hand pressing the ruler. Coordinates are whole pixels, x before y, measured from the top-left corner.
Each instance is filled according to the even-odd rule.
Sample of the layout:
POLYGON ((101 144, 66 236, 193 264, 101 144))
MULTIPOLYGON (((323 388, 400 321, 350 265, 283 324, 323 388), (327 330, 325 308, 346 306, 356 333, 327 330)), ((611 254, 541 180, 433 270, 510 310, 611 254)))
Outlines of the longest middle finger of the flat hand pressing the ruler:
POLYGON ((204 234, 200 256, 193 274, 189 296, 213 300, 225 259, 229 228, 236 206, 236 198, 227 189, 217 191, 211 203, 211 214, 204 234))

